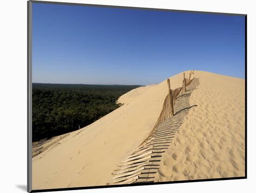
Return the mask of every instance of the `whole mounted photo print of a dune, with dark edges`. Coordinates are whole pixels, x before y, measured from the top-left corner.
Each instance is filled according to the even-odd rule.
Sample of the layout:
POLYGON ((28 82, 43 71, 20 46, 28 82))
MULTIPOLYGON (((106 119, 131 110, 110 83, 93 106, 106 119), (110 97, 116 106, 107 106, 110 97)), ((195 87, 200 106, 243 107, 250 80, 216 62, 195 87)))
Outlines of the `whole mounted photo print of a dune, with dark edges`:
POLYGON ((246 15, 27 5, 28 192, 247 177, 246 15))

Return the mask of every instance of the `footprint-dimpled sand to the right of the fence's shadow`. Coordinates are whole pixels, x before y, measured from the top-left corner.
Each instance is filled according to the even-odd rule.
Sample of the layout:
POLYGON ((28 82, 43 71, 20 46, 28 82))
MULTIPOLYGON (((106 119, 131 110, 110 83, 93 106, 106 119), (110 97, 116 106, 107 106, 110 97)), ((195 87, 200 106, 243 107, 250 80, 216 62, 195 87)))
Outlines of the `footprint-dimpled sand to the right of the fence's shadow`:
POLYGON ((198 106, 190 110, 163 155, 155 182, 245 175, 244 82, 210 76, 200 76, 189 99, 198 106))

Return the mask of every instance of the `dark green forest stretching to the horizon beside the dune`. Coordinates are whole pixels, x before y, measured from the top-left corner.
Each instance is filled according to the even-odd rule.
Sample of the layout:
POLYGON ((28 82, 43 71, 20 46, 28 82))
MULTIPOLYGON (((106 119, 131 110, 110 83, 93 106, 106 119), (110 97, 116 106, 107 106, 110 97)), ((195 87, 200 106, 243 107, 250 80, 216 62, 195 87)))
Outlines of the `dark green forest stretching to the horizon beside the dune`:
POLYGON ((62 135, 117 109, 117 99, 139 85, 39 84, 32 85, 32 138, 62 135))

